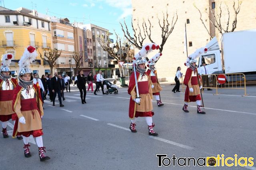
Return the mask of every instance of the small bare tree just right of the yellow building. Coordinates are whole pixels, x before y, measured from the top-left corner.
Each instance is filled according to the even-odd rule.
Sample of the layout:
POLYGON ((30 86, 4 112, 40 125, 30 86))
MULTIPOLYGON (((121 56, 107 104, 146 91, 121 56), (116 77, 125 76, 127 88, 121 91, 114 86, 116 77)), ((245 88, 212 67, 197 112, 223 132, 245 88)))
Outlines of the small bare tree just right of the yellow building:
POLYGON ((58 53, 58 50, 57 49, 50 49, 49 53, 48 53, 48 56, 46 55, 46 53, 44 53, 44 58, 42 57, 42 54, 40 53, 40 58, 44 61, 46 61, 49 66, 50 66, 50 74, 52 75, 52 70, 53 68, 55 67, 56 65, 56 60, 60 57, 60 54, 61 54, 62 51, 60 51, 60 53, 58 53))

